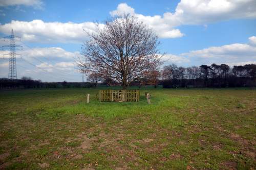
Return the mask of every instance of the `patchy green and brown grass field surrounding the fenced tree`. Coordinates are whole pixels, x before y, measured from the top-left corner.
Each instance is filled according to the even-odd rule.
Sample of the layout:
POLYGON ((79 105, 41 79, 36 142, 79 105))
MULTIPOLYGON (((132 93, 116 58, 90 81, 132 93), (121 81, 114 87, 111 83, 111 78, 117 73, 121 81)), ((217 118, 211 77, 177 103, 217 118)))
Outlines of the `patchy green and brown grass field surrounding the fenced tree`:
POLYGON ((97 91, 0 91, 0 169, 256 169, 256 90, 97 91))

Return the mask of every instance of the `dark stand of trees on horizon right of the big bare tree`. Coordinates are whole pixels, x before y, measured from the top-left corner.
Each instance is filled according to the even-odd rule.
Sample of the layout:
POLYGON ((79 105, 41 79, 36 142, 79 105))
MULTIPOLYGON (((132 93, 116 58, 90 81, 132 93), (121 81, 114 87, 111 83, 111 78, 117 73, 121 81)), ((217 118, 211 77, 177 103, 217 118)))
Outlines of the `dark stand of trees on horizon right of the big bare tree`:
MULTIPOLYGON (((153 78, 155 75, 153 75, 153 78)), ((164 88, 178 87, 254 87, 256 86, 256 65, 246 64, 230 68, 226 64, 211 64, 182 67, 166 65, 158 72, 164 88)))

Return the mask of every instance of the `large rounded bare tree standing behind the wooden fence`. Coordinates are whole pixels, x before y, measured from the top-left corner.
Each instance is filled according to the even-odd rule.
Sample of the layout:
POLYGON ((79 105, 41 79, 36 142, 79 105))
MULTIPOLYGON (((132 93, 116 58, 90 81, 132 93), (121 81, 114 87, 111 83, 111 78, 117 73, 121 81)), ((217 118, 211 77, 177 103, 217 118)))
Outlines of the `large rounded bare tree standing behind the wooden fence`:
POLYGON ((78 69, 109 77, 126 89, 143 72, 159 67, 161 55, 158 37, 131 15, 121 15, 97 25, 97 33, 88 33, 90 40, 82 47, 78 69))

